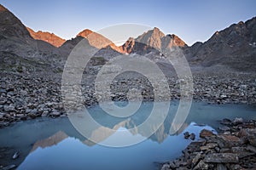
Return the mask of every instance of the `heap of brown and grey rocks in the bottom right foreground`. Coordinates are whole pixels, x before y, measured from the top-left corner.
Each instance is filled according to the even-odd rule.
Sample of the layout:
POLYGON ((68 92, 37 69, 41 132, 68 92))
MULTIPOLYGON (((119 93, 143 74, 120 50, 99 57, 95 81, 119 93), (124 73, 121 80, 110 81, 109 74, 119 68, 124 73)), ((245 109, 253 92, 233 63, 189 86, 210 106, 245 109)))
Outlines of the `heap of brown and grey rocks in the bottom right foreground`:
POLYGON ((256 120, 236 118, 220 123, 218 134, 203 129, 199 141, 189 144, 183 156, 165 163, 161 170, 256 169, 256 120))

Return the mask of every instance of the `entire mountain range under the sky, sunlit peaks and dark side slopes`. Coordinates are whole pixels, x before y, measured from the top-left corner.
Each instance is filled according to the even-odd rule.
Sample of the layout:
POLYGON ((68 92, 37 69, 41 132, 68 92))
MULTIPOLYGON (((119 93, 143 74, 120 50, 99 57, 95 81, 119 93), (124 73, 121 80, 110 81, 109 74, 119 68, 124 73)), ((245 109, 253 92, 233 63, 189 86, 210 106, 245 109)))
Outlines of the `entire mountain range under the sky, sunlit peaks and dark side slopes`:
POLYGON ((65 63, 67 55, 83 38, 90 46, 98 48, 97 55, 109 59, 118 54, 149 54, 166 48, 179 47, 189 64, 212 67, 224 65, 235 71, 256 71, 256 17, 233 24, 223 31, 216 31, 207 42, 195 42, 188 46, 176 35, 165 35, 159 28, 144 32, 139 37, 130 37, 122 46, 116 46, 107 37, 85 29, 71 40, 57 37, 54 33, 32 31, 24 26, 14 14, 0 5, 0 54, 50 65, 65 63), (54 62, 52 62, 54 60, 54 62))

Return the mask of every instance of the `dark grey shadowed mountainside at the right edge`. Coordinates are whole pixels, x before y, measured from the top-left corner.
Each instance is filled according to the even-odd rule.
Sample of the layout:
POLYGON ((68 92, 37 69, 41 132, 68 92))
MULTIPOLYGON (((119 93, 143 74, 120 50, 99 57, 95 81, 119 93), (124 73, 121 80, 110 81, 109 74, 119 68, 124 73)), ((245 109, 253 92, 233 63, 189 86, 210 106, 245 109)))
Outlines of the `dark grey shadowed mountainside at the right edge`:
POLYGON ((256 17, 216 31, 207 42, 196 42, 184 53, 192 65, 256 71, 256 17))

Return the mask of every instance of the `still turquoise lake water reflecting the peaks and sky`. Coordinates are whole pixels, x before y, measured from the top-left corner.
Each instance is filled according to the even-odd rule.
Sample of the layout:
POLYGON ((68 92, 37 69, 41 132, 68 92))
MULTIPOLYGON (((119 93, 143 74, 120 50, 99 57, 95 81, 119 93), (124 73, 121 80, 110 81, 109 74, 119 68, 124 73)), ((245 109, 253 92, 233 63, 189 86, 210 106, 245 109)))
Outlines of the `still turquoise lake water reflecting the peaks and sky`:
MULTIPOLYGON (((37 119, 18 122, 0 129, 0 147, 9 147, 9 154, 0 159, 0 164, 19 165, 17 169, 158 169, 157 162, 170 161, 180 156, 191 142, 183 139, 183 132, 195 133, 198 138, 201 129, 217 130, 218 120, 223 118, 256 119, 255 105, 207 105, 194 103, 189 116, 177 133, 170 135, 173 111, 172 103, 166 121, 151 137, 142 143, 113 148, 95 144, 75 130, 67 117, 37 119), (195 126, 204 124, 205 126, 195 126), (20 157, 12 160, 16 150, 20 157)), ((152 103, 143 104, 130 119, 110 118, 98 106, 90 108, 90 114, 109 128, 127 131, 143 122, 152 108, 152 103), (122 123, 125 122, 125 123, 122 123)), ((127 131, 129 132, 129 131, 127 131)), ((215 131, 216 132, 216 131, 215 131)), ((97 135, 97 133, 92 133, 97 135)), ((143 138, 141 133, 127 133, 131 138, 143 138)), ((115 139, 115 134, 106 135, 103 140, 115 139)))

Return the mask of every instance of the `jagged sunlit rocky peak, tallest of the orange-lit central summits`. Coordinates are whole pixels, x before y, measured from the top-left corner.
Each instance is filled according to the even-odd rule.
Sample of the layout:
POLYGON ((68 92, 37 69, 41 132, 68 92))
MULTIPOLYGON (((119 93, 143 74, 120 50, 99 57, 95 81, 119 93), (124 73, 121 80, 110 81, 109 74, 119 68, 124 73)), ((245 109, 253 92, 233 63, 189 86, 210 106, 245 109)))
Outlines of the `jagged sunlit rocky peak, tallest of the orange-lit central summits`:
POLYGON ((122 46, 127 54, 148 54, 150 52, 163 51, 166 48, 186 48, 187 44, 176 35, 165 35, 160 29, 154 27, 153 30, 144 32, 143 35, 137 38, 129 38, 122 46))

